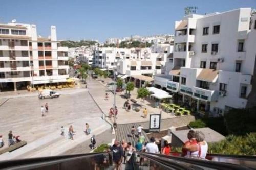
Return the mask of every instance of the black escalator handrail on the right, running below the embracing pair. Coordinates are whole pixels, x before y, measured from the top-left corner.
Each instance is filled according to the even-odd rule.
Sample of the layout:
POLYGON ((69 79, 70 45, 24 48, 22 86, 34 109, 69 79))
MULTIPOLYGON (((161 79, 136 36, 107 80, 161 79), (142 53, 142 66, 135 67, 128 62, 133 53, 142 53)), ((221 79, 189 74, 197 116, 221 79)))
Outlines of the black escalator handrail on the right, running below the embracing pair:
MULTIPOLYGON (((145 153, 145 152, 138 152, 136 151, 137 154, 141 155, 141 153, 145 153)), ((162 154, 153 154, 153 153, 146 153, 149 155, 155 155, 155 156, 159 156, 159 157, 165 157, 165 158, 169 158, 172 160, 178 160, 178 161, 183 161, 186 163, 190 163, 190 164, 196 164, 199 166, 205 166, 205 167, 209 167, 209 168, 216 168, 216 169, 253 169, 251 167, 246 167, 246 166, 241 166, 241 165, 237 165, 237 164, 231 164, 231 163, 223 163, 223 162, 214 162, 214 161, 207 161, 207 160, 202 160, 202 159, 195 159, 195 158, 186 158, 186 157, 177 157, 177 156, 167 156, 167 155, 162 155, 162 154)))

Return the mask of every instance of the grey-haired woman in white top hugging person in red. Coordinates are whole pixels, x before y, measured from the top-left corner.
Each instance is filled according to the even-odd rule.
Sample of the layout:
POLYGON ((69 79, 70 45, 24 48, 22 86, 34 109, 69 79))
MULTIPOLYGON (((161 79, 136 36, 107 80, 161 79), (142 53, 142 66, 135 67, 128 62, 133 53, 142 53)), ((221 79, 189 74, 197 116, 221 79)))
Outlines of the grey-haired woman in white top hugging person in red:
POLYGON ((197 144, 187 145, 185 148, 191 152, 191 157, 205 159, 208 151, 208 144, 204 140, 204 134, 202 132, 197 131, 195 133, 195 138, 197 140, 197 144))

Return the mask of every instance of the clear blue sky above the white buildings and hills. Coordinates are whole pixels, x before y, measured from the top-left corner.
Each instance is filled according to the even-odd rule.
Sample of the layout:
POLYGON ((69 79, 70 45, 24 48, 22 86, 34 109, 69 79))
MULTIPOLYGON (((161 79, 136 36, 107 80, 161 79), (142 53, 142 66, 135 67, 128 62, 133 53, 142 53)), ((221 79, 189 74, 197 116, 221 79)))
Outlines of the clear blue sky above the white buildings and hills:
POLYGON ((223 12, 241 7, 256 8, 256 0, 24 0, 2 1, 0 22, 16 19, 34 23, 37 33, 79 40, 131 35, 173 34, 174 22, 184 7, 197 6, 197 14, 223 12))

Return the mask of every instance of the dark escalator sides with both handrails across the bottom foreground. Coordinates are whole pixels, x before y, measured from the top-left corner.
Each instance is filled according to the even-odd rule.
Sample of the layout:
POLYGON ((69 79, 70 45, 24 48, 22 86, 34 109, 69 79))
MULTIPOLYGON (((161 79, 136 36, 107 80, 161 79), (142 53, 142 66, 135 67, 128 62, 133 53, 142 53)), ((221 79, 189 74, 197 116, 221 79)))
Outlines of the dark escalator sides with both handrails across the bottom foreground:
MULTIPOLYGON (((208 154, 209 160, 134 152, 122 169, 256 169, 254 156, 208 154), (211 161, 210 161, 211 160, 211 161)), ((114 169, 112 153, 63 155, 0 162, 0 169, 114 169)))

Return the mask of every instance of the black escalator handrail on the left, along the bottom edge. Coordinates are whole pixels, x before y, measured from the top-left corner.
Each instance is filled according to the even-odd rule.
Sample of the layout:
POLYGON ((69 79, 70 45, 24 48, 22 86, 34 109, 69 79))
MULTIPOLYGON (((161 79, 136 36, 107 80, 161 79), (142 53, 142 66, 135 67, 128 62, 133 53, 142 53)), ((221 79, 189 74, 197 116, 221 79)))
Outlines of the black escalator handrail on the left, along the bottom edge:
POLYGON ((60 155, 60 156, 48 156, 48 157, 38 157, 38 158, 26 158, 26 159, 15 159, 15 160, 4 160, 0 161, 0 168, 14 168, 21 166, 33 166, 33 165, 43 165, 43 164, 52 164, 60 163, 63 161, 69 161, 74 159, 82 159, 93 156, 99 156, 105 154, 105 152, 99 153, 88 153, 88 154, 74 154, 74 155, 60 155))

